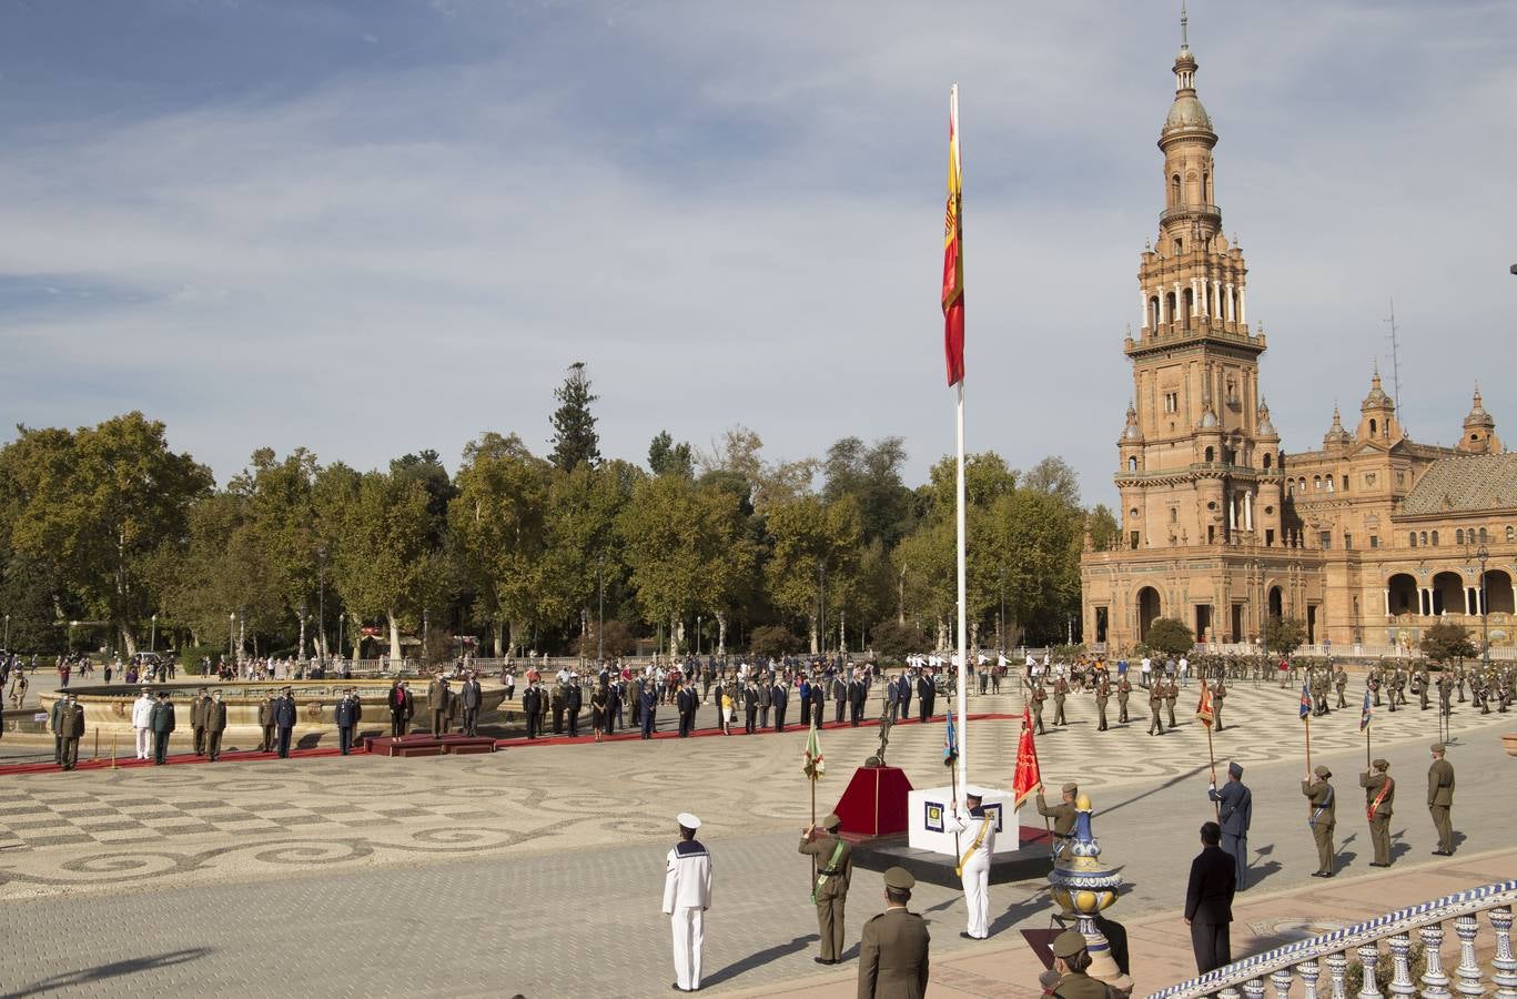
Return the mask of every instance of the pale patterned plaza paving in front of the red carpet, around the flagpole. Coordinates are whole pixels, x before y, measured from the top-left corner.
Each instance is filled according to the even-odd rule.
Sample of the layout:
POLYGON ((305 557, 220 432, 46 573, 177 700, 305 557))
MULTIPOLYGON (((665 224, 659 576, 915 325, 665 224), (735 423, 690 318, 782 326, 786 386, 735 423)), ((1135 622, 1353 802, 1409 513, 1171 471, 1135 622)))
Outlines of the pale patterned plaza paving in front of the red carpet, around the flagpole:
MULTIPOLYGON (((1229 730, 1217 739, 1220 758, 1236 753, 1248 767, 1255 868, 1268 888, 1308 882, 1312 870, 1294 698, 1274 688, 1235 691, 1229 730)), ((1041 741, 1045 777, 1091 788, 1103 856, 1133 882, 1118 919, 1176 905, 1192 830, 1209 814, 1204 732, 1185 723, 1186 706, 1182 698, 1180 730, 1150 738, 1136 726, 1094 732, 1089 698, 1074 698, 1076 724, 1041 741)), ((981 709, 1018 704, 974 698, 971 711, 981 709)), ((1405 853, 1399 865, 1431 849, 1418 783, 1434 724, 1432 712, 1418 711, 1376 723, 1376 753, 1408 788, 1393 826, 1405 853)), ((1455 818, 1475 844, 1509 840, 1512 768, 1496 739, 1502 727, 1455 717, 1455 818)), ((897 727, 890 759, 927 786, 944 776, 941 741, 941 724, 897 727)), ((972 727, 975 780, 1009 782, 1015 741, 1015 721, 972 727)), ((877 744, 869 729, 824 736, 821 808, 877 744)), ((669 817, 686 808, 705 818, 702 838, 716 855, 707 984, 795 984, 818 970, 807 873, 795 855, 807 818, 802 745, 796 729, 485 758, 8 777, 0 827, 15 838, 0 843, 0 993, 61 985, 59 994, 240 996, 267 994, 278 981, 311 994, 661 994, 671 981, 667 923, 657 914, 661 858, 669 817), (109 841, 117 835, 141 840, 109 841)), ((1347 808, 1364 761, 1356 711, 1314 724, 1317 761, 1338 770, 1346 876, 1362 876, 1362 823, 1347 808)), ((878 891, 878 876, 860 871, 853 938, 877 911, 878 891)), ((934 919, 936 953, 962 952, 954 893, 922 888, 915 906, 934 919)), ((994 911, 997 932, 1048 920, 1035 884, 998 888, 994 911)))

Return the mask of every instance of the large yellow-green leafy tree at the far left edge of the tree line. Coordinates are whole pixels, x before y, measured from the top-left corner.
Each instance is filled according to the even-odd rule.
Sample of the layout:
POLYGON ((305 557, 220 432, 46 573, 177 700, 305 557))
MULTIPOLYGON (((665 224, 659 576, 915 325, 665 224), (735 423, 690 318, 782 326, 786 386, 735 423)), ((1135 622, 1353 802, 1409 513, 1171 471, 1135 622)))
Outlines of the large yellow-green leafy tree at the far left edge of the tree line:
POLYGON ((156 610, 149 563, 185 544, 190 507, 211 487, 211 471, 170 451, 164 425, 141 413, 73 433, 18 427, 0 449, 0 528, 68 591, 55 603, 109 621, 130 654, 156 610))

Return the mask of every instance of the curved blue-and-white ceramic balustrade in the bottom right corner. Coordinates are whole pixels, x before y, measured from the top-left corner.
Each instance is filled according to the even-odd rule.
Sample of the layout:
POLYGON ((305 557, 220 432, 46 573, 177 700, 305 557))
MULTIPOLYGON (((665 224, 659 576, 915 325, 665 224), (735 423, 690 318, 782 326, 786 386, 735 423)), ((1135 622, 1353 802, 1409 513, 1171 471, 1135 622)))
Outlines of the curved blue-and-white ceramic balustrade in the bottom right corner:
POLYGON ((1358 961, 1362 969, 1364 985, 1356 993, 1358 999, 1382 999, 1384 993, 1376 982, 1382 941, 1390 950, 1390 993, 1394 999, 1418 993, 1426 999, 1453 999, 1455 993, 1461 999, 1478 996, 1517 999, 1517 958, 1512 956, 1511 938, 1514 902, 1517 902, 1517 881, 1471 888, 1233 961, 1198 978, 1150 993, 1148 999, 1197 999, 1214 994, 1221 999, 1264 999, 1267 988, 1274 990, 1274 999, 1288 999, 1297 982, 1300 984, 1297 994, 1303 999, 1318 999, 1323 993, 1326 993, 1323 999, 1347 999, 1350 961, 1358 961), (1485 970, 1476 961, 1475 940, 1481 932, 1481 914, 1490 923, 1494 938, 1490 984, 1485 981, 1485 970), (1459 940, 1459 963, 1452 978, 1440 953, 1444 926, 1449 923, 1453 925, 1459 940), (1424 967, 1415 981, 1412 979, 1414 935, 1423 946, 1424 967), (1323 981, 1324 969, 1327 981, 1323 981))

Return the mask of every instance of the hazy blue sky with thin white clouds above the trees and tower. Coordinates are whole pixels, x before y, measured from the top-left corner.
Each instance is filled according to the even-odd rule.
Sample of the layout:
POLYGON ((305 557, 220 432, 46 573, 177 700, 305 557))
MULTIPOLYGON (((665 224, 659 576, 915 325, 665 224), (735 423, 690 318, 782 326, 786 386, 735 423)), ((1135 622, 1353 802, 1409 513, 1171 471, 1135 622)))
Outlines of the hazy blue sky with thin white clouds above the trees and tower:
MULTIPOLYGON (((8 0, 0 427, 455 465, 545 451, 584 360, 610 455, 900 434, 921 478, 959 82, 969 446, 1109 501, 1176 6, 8 0)), ((1393 296, 1412 436, 1481 378, 1517 437, 1517 6, 1197 0, 1191 46, 1286 451, 1390 375, 1393 296)))

